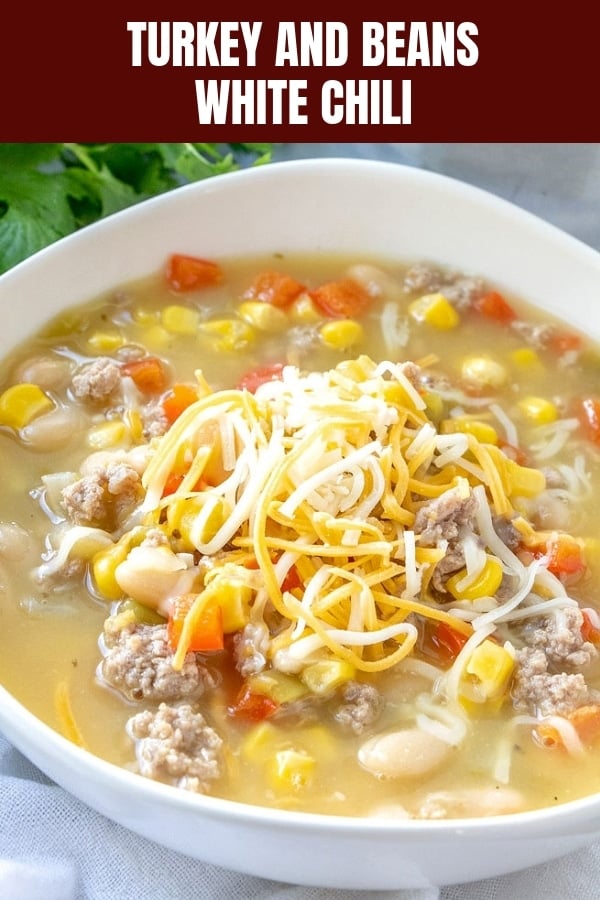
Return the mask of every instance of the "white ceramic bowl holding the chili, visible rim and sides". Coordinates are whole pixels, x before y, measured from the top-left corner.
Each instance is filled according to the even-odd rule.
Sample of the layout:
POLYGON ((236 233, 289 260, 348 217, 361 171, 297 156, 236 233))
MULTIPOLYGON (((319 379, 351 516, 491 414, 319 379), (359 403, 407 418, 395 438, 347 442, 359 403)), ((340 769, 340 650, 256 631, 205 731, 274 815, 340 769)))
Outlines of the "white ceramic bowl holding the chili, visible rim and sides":
MULTIPOLYGON (((157 270, 167 253, 349 251, 481 274, 600 338, 600 254, 453 179, 343 159, 267 165, 179 188, 63 239, 0 278, 0 354, 62 307, 157 270)), ((485 819, 389 821, 191 796, 79 749, 0 688, 0 728, 50 778, 159 844, 296 884, 398 889, 491 877, 600 836, 600 796, 485 819)))

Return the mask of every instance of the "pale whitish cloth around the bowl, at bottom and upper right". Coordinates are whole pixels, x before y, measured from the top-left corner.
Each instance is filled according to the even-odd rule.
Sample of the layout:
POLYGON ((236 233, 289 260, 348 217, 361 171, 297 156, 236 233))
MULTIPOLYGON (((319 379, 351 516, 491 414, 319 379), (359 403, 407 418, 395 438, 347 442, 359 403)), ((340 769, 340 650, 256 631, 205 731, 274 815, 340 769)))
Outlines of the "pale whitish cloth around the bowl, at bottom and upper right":
MULTIPOLYGON (((600 144, 289 144, 486 188, 600 250, 600 144)), ((239 875, 164 850, 51 783, 0 736, 0 900, 598 900, 597 844, 514 875, 415 891, 336 891, 239 875)))

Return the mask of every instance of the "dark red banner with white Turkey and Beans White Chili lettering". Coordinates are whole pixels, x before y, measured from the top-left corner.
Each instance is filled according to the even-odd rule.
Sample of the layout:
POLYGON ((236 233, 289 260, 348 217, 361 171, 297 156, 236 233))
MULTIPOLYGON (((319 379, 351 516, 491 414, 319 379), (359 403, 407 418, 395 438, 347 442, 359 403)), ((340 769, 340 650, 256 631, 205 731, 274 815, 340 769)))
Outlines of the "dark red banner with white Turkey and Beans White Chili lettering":
POLYGON ((595 29, 532 6, 9 4, 0 137, 598 139, 595 29))

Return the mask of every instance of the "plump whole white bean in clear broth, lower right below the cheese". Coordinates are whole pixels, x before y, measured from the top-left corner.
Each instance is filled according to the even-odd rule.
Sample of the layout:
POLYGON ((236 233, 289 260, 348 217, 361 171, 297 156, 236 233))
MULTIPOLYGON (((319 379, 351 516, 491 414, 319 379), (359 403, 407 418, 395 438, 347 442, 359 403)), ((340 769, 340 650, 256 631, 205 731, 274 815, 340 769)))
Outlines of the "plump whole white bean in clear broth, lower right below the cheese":
POLYGON ((420 778, 448 758, 452 748, 418 728, 378 734, 362 745, 358 760, 379 778, 420 778))

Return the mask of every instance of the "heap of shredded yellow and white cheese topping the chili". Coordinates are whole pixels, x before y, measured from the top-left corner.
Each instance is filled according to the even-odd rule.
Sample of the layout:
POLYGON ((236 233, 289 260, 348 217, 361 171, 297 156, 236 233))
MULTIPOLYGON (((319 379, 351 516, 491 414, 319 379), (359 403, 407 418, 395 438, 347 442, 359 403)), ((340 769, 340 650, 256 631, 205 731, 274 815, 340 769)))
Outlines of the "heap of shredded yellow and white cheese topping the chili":
MULTIPOLYGON (((466 639, 446 679, 456 697, 468 654, 497 621, 518 614, 543 561, 526 568, 494 530, 493 516, 514 513, 502 451, 471 434, 439 434, 409 375, 412 364, 361 356, 329 372, 303 374, 288 365, 280 380, 261 384, 254 395, 205 393, 153 443, 142 512, 147 524, 168 530, 170 509, 195 498, 187 552, 211 557, 217 567, 231 554, 253 554, 251 615, 257 621, 274 610, 281 619, 271 638, 274 665, 293 671, 333 655, 358 670, 380 671, 412 653, 419 635, 413 617, 445 622, 466 639), (186 464, 179 487, 163 496, 169 476, 186 464), (204 472, 212 483, 199 481, 204 472), (443 514, 433 542, 423 542, 415 521, 424 505, 446 496, 458 507, 477 500, 475 530, 461 531, 464 583, 476 579, 486 554, 517 579, 511 597, 492 609, 475 603, 468 611, 460 603, 444 609, 430 592, 448 551, 443 514), (286 586, 292 569, 296 587, 294 579, 286 586)), ((210 590, 188 613, 178 665, 206 592, 217 583, 211 576, 210 590)), ((455 735, 454 720, 423 716, 431 733, 455 735)))

